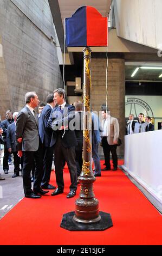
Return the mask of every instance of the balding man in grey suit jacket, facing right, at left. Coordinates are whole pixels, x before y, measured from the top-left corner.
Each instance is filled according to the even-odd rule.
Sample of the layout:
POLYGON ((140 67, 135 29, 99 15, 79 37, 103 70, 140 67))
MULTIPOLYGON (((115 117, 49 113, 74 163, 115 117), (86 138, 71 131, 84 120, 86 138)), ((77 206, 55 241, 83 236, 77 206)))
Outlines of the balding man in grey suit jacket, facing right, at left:
POLYGON ((25 95, 25 102, 27 105, 21 109, 16 122, 18 156, 23 155, 24 194, 28 198, 41 198, 41 194, 46 194, 49 191, 43 191, 41 188, 43 177, 42 143, 38 134, 38 119, 34 110, 40 101, 35 92, 29 92, 25 95), (33 190, 31 190, 30 172, 34 160, 36 168, 33 190))

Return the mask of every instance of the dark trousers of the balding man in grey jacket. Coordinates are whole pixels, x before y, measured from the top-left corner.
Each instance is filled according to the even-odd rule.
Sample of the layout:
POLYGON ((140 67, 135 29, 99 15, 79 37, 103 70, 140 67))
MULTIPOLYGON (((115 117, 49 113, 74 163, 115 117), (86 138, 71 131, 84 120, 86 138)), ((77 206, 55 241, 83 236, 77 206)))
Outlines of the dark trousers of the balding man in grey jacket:
POLYGON ((37 151, 23 151, 23 186, 24 194, 31 194, 33 191, 40 190, 41 181, 43 177, 43 152, 42 145, 38 148, 37 151), (31 190, 31 178, 30 172, 33 167, 35 160, 35 172, 34 172, 34 184, 33 190, 31 190))

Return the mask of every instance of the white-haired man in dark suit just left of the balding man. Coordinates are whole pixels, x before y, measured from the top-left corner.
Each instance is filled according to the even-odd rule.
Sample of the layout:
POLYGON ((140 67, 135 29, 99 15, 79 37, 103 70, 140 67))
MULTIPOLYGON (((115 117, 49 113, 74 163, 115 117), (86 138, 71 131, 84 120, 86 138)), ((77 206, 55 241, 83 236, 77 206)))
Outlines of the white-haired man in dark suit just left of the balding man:
POLYGON ((18 157, 17 155, 16 139, 15 139, 17 115, 18 115, 18 112, 14 112, 13 114, 14 123, 10 124, 7 129, 7 149, 10 154, 13 153, 14 155, 14 175, 12 175, 12 178, 19 176, 19 172, 20 172, 20 157, 18 157))

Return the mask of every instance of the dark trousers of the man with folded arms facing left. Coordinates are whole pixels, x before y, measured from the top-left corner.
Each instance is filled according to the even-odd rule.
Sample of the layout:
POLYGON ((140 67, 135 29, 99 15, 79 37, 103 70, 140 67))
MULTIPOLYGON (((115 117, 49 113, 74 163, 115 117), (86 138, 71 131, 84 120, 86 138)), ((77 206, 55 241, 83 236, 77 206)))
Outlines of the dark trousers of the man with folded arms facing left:
POLYGON ((69 173, 70 173, 70 190, 76 190, 77 188, 77 170, 75 162, 75 147, 64 148, 61 143, 61 138, 57 138, 57 142, 54 146, 54 157, 55 157, 55 174, 57 186, 64 188, 63 181, 63 167, 64 161, 67 162, 69 173))

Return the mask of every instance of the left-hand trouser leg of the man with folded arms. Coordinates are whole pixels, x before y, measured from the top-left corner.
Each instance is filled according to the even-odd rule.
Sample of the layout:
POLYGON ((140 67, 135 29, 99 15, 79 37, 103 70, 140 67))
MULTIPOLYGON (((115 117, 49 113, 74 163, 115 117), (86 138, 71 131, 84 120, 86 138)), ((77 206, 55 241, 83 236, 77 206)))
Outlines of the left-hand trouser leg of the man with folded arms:
POLYGON ((64 188, 63 181, 63 167, 64 167, 64 155, 62 153, 61 139, 57 138, 57 142, 54 147, 54 157, 55 157, 55 175, 57 186, 64 188))

